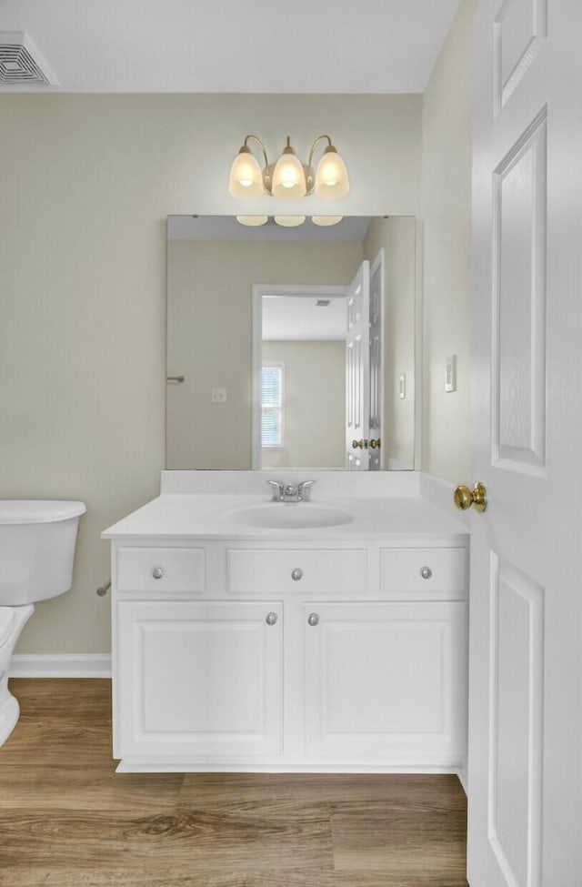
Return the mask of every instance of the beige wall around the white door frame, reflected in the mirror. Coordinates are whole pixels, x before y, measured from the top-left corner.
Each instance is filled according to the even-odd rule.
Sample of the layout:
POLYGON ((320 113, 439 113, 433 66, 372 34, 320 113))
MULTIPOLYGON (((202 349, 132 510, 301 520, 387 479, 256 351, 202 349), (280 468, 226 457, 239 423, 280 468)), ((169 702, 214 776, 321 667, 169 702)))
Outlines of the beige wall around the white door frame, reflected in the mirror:
POLYGON ((361 261, 349 241, 169 241, 168 371, 186 381, 168 386, 168 468, 251 468, 253 284, 347 285, 361 261))

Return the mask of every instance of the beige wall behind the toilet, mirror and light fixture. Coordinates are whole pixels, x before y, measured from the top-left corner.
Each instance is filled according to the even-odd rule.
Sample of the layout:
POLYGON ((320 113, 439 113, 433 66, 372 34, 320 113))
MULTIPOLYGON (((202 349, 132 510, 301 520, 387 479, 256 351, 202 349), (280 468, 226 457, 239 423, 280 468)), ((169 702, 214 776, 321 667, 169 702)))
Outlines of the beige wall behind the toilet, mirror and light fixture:
MULTIPOLYGON (((83 499, 73 589, 19 652, 104 652, 108 524, 164 465, 166 216, 294 212, 226 192, 248 132, 329 132, 346 214, 417 214, 420 96, 0 96, 0 497, 83 499)), ((309 211, 329 204, 309 198, 309 211)))

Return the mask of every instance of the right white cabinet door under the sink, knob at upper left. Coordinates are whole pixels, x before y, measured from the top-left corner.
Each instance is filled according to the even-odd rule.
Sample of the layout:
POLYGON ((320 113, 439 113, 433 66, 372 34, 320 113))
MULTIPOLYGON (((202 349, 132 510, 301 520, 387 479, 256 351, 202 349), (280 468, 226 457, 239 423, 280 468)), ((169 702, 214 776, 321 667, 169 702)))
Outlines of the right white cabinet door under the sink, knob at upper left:
POLYGON ((461 763, 467 604, 324 603, 304 615, 309 757, 461 763))

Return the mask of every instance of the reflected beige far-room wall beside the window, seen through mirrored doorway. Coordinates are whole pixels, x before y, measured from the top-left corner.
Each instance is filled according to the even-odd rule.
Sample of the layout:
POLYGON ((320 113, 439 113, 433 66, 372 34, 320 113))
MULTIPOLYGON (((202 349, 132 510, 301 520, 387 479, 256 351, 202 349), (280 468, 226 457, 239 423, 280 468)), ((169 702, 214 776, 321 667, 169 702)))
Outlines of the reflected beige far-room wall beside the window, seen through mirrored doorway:
POLYGON ((263 363, 282 361, 284 447, 262 450, 263 468, 346 466, 346 342, 263 343, 263 363))

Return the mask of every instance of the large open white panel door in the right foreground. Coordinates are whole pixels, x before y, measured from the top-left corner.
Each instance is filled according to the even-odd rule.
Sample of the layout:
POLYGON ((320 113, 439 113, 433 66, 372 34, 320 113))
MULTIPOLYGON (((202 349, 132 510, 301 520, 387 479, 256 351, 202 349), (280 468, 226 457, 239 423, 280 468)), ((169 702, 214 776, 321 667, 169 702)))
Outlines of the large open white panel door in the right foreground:
POLYGON ((475 28, 471 887, 582 883, 582 4, 475 28))

